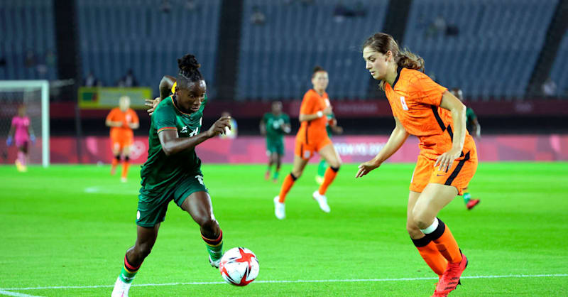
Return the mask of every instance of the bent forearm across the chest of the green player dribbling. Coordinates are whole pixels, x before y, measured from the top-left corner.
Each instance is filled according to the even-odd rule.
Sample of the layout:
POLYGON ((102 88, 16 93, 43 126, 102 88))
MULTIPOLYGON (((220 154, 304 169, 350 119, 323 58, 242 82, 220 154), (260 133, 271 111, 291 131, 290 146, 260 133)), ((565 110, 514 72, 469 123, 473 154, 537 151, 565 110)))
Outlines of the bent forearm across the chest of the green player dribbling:
POLYGON ((225 134, 226 127, 231 129, 230 121, 231 117, 221 117, 215 121, 209 130, 187 138, 180 138, 178 136, 178 131, 175 129, 163 129, 158 131, 158 138, 160 139, 160 144, 162 145, 162 150, 164 151, 165 156, 170 156, 171 154, 179 153, 180 151, 193 149, 203 141, 219 134, 225 134))

